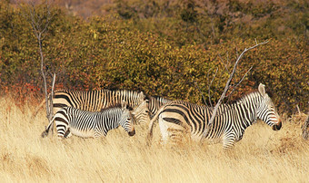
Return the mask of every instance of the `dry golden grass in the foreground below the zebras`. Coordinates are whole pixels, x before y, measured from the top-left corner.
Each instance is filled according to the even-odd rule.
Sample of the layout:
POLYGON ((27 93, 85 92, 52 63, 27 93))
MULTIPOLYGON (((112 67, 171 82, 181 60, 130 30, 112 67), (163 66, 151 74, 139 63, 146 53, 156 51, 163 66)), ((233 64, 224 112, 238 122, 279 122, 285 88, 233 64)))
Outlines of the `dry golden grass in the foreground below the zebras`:
POLYGON ((258 122, 233 149, 222 144, 164 147, 154 128, 151 147, 146 130, 134 137, 111 130, 103 140, 72 137, 42 139, 47 121, 42 110, 35 120, 30 102, 0 98, 1 182, 308 182, 309 142, 301 137, 306 115, 284 120, 273 131, 258 122))

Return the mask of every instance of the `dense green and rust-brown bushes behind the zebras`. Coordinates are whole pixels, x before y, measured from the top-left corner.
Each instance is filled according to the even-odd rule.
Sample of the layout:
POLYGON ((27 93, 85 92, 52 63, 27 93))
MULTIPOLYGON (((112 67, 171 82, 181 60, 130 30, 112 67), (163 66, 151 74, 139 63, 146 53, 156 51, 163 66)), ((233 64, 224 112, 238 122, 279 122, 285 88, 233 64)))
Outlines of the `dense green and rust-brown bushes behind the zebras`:
MULTIPOLYGON (((254 45, 254 38, 272 38, 245 53, 234 82, 254 67, 234 98, 263 82, 281 111, 293 112, 296 105, 308 109, 305 1, 149 2, 115 1, 103 7, 108 14, 87 20, 55 6, 43 43, 45 69, 57 74, 56 88, 142 90, 203 103, 201 93, 208 101, 218 68, 211 88, 216 101, 228 78, 225 66, 231 69, 237 53, 254 45), (284 8, 293 11, 280 13, 284 8)), ((42 86, 37 43, 21 14, 0 3, 1 89, 37 92, 42 86)))

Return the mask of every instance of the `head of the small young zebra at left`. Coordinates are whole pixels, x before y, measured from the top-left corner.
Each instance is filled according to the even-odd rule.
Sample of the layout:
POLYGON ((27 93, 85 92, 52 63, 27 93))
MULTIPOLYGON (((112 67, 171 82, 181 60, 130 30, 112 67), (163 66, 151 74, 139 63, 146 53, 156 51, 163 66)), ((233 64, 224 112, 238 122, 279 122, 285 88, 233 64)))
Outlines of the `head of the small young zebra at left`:
POLYGON ((134 125, 134 118, 129 110, 125 101, 121 103, 122 107, 122 114, 119 120, 119 124, 125 129, 126 132, 129 133, 130 136, 135 135, 135 125, 134 125))

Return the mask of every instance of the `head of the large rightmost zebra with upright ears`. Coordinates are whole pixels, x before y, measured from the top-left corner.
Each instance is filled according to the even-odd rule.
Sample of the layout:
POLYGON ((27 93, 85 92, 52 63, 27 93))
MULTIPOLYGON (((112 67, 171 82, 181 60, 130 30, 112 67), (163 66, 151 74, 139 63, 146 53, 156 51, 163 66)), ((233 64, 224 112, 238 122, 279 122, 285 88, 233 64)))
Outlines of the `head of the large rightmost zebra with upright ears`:
POLYGON ((273 130, 280 130, 282 122, 280 120, 279 114, 275 111, 274 103, 272 99, 265 92, 265 85, 260 83, 258 87, 258 92, 262 96, 262 101, 259 102, 257 106, 257 118, 264 120, 266 124, 272 126, 273 130))

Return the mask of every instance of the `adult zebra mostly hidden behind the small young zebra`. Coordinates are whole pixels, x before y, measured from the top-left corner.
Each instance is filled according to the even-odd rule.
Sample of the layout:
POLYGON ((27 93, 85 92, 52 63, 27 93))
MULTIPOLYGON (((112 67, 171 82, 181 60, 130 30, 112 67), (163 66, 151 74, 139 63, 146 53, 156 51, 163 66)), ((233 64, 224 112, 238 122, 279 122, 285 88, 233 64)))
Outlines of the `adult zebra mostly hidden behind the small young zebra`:
MULTIPOLYGON (((135 115, 143 116, 135 118, 138 122, 149 123, 150 119, 146 117, 148 115, 148 109, 146 107, 145 110, 140 110, 139 112, 135 111, 135 108, 145 101, 144 92, 127 90, 110 91, 104 89, 89 92, 66 90, 56 91, 53 95, 53 113, 55 114, 63 107, 68 106, 83 111, 101 111, 111 106, 115 106, 116 104, 121 103, 121 101, 125 101, 129 107, 133 108, 133 113, 135 115)), ((35 117, 39 109, 43 107, 44 104, 45 100, 41 102, 31 119, 35 117)))

